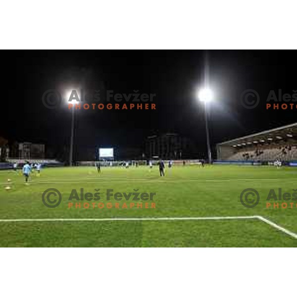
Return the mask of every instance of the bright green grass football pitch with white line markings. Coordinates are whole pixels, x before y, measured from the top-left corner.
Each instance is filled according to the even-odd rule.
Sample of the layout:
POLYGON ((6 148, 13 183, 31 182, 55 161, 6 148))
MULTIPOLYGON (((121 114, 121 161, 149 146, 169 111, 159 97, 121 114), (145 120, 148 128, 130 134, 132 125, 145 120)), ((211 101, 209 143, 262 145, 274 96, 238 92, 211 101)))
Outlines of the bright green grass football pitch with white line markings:
POLYGON ((0 171, 0 247, 297 247, 297 200, 266 200, 279 188, 297 190, 297 168, 45 168, 29 185, 0 171), (43 200, 48 189, 58 206, 45 205, 58 200, 43 200), (245 189, 256 206, 242 204, 245 189))

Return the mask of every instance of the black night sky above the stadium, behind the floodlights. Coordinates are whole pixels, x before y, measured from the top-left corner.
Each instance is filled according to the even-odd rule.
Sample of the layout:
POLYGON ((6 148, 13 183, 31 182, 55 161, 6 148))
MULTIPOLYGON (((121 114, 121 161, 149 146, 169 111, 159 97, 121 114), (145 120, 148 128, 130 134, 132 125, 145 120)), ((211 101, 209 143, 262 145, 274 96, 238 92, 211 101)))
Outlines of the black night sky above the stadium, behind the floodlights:
MULTIPOLYGON (((210 137, 216 143, 296 121, 295 110, 266 110, 270 90, 297 90, 296 51, 209 50, 209 83, 215 102, 210 137), (257 91, 254 109, 242 106, 246 89, 257 91)), ((153 132, 178 132, 205 150, 202 105, 195 98, 203 82, 203 50, 2 50, 3 96, 0 136, 10 140, 69 144, 67 106, 48 109, 42 95, 80 85, 119 93, 155 93, 156 110, 82 110, 75 143, 86 147, 140 147, 153 132)), ((104 101, 101 101, 104 103, 104 101)))

